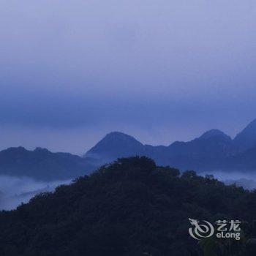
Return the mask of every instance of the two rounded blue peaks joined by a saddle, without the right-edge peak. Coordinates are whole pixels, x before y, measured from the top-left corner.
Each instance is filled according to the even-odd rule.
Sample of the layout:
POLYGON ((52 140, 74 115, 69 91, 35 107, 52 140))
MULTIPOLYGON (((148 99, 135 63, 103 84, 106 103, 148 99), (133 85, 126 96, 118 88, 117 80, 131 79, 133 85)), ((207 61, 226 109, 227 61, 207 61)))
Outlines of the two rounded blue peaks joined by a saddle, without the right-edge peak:
POLYGON ((200 138, 175 142, 170 146, 143 145, 132 136, 111 132, 91 148, 85 157, 100 160, 103 164, 120 157, 146 156, 159 165, 200 170, 230 154, 233 154, 233 140, 224 132, 211 129, 200 138))

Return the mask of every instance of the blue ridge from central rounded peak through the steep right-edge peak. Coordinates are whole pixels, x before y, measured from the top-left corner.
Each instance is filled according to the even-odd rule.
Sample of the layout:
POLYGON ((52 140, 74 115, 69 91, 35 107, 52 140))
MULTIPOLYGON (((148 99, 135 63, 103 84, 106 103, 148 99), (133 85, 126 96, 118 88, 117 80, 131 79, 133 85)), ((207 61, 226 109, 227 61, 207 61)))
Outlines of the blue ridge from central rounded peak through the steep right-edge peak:
POLYGON ((100 159, 103 163, 136 155, 151 157, 158 165, 181 170, 256 170, 256 120, 234 140, 219 129, 211 129, 199 138, 189 142, 176 141, 170 146, 143 145, 130 135, 110 132, 84 157, 100 159))

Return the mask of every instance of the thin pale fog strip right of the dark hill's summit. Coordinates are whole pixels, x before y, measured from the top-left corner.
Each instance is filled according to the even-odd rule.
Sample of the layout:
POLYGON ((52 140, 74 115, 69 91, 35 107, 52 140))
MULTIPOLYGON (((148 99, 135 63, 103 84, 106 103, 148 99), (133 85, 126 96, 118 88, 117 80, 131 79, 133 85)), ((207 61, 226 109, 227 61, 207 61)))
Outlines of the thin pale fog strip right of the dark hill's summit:
POLYGON ((238 187, 244 187, 244 189, 256 189, 256 171, 255 173, 239 173, 239 172, 223 172, 217 170, 214 172, 200 173, 200 175, 205 176, 206 174, 211 174, 214 178, 219 181, 223 181, 225 184, 236 184, 238 187))

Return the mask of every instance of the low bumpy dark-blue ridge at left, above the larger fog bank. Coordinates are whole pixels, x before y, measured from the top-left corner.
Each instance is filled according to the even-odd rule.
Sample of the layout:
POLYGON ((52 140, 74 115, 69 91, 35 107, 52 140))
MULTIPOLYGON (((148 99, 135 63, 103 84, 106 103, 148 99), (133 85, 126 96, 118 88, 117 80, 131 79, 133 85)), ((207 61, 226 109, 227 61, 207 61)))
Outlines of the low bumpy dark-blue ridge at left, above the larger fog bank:
POLYGON ((89 159, 68 153, 52 153, 45 148, 29 151, 18 147, 0 151, 0 175, 51 181, 75 178, 89 170, 94 170, 89 159))

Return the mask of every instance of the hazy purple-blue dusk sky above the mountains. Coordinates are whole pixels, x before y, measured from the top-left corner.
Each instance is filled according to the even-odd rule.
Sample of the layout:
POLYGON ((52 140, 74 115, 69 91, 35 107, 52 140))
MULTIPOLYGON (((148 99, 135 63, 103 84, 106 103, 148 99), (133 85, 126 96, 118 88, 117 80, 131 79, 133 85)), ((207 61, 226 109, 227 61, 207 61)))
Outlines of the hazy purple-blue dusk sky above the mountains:
POLYGON ((256 118, 253 0, 0 3, 0 149, 169 145, 256 118))

